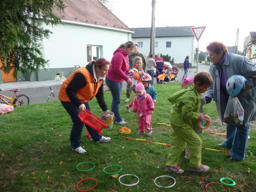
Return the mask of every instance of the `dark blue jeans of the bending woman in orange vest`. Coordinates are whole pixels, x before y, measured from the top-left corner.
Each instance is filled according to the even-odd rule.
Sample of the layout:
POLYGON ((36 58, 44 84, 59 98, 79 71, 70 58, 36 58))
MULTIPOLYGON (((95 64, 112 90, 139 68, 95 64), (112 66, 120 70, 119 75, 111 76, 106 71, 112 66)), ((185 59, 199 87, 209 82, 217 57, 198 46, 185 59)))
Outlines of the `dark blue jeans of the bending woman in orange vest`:
MULTIPOLYGON (((98 131, 96 131, 95 129, 91 128, 90 126, 84 124, 80 120, 80 118, 78 117, 80 110, 72 102, 61 101, 61 104, 63 105, 65 110, 68 112, 68 114, 71 117, 72 122, 73 122, 72 129, 70 132, 70 143, 71 143, 70 146, 72 147, 72 149, 75 149, 75 148, 78 148, 81 146, 80 141, 81 141, 83 125, 85 125, 85 127, 87 128, 87 131, 90 133, 93 141, 97 142, 98 140, 100 140, 102 138, 102 135, 99 134, 98 131)), ((91 111, 88 102, 84 103, 84 105, 87 110, 91 111)))

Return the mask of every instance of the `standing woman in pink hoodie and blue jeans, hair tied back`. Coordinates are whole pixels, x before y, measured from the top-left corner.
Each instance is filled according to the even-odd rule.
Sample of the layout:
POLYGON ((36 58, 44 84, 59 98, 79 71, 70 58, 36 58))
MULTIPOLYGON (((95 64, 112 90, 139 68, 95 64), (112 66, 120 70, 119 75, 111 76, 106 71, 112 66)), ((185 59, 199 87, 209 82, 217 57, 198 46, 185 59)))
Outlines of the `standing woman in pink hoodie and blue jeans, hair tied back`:
POLYGON ((135 45, 131 41, 127 41, 121 44, 115 51, 111 65, 106 75, 106 84, 112 94, 111 110, 114 113, 116 124, 127 124, 120 115, 120 103, 121 103, 121 91, 122 83, 125 80, 127 84, 131 84, 132 80, 126 75, 129 71, 129 59, 128 55, 132 53, 135 45))

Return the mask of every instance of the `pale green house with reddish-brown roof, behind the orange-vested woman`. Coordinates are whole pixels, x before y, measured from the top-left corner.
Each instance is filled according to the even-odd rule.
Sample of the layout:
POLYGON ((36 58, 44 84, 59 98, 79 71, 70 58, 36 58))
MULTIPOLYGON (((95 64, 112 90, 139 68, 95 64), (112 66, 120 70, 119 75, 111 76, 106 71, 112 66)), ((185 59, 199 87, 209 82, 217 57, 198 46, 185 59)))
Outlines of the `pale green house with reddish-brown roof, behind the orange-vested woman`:
POLYGON ((49 40, 41 42, 43 57, 50 60, 49 67, 32 76, 29 72, 17 74, 18 81, 53 80, 60 71, 68 77, 74 65, 85 67, 89 61, 100 57, 110 61, 120 44, 132 40, 134 32, 98 0, 64 0, 64 4, 67 6, 64 13, 54 11, 64 25, 42 26, 53 32, 49 40))

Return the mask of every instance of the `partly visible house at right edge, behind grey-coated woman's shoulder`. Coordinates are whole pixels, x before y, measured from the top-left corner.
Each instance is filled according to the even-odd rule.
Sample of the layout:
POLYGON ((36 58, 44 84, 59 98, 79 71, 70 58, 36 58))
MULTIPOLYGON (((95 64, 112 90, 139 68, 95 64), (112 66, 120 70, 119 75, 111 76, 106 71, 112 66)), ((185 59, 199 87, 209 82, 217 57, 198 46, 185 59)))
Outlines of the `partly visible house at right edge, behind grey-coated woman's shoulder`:
POLYGON ((244 56, 251 59, 253 63, 256 64, 256 31, 250 32, 248 37, 244 41, 244 56))

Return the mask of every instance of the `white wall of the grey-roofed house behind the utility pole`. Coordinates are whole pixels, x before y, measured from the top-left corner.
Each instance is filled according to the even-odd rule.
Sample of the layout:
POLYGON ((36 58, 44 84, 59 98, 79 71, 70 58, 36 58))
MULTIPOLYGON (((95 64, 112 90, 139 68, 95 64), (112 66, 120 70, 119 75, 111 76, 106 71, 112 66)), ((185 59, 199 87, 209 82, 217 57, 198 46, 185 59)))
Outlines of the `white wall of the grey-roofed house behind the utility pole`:
MULTIPOLYGON (((139 48, 139 53, 144 54, 146 57, 148 56, 150 38, 133 38, 132 42, 136 44, 143 42, 143 48, 139 48)), ((156 37, 155 42, 158 42, 155 54, 168 54, 171 59, 174 57, 174 63, 183 63, 186 56, 190 57, 190 62, 194 60, 194 37, 156 37), (172 42, 172 48, 166 48, 166 41, 172 42)))

